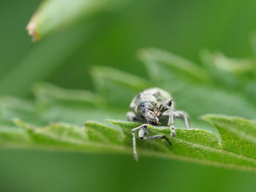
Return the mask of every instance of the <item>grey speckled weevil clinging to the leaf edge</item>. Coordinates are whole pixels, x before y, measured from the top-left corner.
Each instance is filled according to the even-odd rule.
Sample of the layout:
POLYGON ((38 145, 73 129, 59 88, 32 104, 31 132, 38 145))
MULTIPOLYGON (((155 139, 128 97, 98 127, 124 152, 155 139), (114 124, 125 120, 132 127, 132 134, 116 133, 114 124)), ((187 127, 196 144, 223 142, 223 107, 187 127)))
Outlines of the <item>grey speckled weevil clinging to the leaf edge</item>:
POLYGON ((174 100, 170 93, 161 88, 148 88, 140 92, 132 99, 129 105, 131 112, 127 112, 127 119, 133 122, 140 122, 143 125, 132 129, 132 145, 135 161, 138 161, 138 153, 136 149, 135 131, 138 131, 140 139, 165 139, 171 145, 170 140, 164 135, 154 135, 145 137, 148 134, 148 124, 153 126, 169 126, 170 137, 176 136, 173 121, 175 118, 182 118, 185 127, 190 128, 189 120, 184 112, 177 111, 174 108, 174 100))

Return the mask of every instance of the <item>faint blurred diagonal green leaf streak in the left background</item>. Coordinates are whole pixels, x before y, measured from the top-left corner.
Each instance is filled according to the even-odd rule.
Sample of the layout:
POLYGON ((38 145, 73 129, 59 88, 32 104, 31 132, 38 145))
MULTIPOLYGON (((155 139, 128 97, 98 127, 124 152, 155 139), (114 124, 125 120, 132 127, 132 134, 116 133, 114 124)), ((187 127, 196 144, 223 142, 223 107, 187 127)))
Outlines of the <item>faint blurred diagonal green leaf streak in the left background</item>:
POLYGON ((40 42, 2 77, 0 93, 28 96, 33 83, 45 80, 49 74, 58 69, 64 61, 88 41, 96 28, 97 25, 94 23, 86 28, 85 26, 76 26, 40 42))

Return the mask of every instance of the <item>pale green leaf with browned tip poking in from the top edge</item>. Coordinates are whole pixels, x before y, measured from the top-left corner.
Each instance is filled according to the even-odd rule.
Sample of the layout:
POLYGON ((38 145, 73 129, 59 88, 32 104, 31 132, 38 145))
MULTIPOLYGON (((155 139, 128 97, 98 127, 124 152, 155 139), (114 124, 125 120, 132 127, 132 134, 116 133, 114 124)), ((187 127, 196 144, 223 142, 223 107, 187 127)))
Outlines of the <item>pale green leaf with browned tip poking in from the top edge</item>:
POLYGON ((45 0, 31 18, 27 30, 35 41, 81 17, 118 9, 128 0, 45 0))

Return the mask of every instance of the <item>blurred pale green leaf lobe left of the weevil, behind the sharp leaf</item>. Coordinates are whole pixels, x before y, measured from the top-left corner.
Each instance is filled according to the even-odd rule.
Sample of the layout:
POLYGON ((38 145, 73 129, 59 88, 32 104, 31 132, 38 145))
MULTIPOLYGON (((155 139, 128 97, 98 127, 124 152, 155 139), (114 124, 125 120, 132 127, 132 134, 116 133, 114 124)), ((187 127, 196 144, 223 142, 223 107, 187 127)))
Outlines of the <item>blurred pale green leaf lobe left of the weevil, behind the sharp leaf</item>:
POLYGON ((91 91, 67 90, 45 82, 35 84, 33 91, 41 124, 64 122, 82 126, 86 120, 104 122, 110 114, 121 116, 107 107, 104 97, 91 91))

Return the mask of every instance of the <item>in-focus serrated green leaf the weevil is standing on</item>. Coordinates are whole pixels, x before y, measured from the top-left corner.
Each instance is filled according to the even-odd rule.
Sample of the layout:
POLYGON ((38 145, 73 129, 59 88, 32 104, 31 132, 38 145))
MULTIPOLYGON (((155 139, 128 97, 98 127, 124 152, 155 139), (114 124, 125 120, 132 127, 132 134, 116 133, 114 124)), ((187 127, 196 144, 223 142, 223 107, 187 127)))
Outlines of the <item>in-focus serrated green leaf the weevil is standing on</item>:
MULTIPOLYGON (((229 122, 229 120, 233 120, 235 124, 237 122, 236 118, 209 115, 207 117, 212 121, 217 119, 221 122, 229 122)), ((0 145, 12 147, 17 145, 19 147, 33 147, 45 150, 129 153, 132 156, 131 129, 139 126, 139 124, 120 120, 109 120, 109 122, 121 129, 91 121, 86 123, 86 128, 67 123, 52 123, 48 126, 36 128, 23 121, 15 120, 16 125, 20 126, 21 129, 1 128, 0 145)), ((238 125, 249 126, 247 127, 248 129, 256 129, 255 122, 249 120, 238 119, 238 125)), ((148 126, 148 128, 150 134, 170 134, 167 127, 148 126)), ((225 124, 222 124, 222 128, 230 129, 225 124)), ((236 128, 234 127, 234 129, 236 128)), ((246 131, 244 135, 247 132, 249 131, 246 131)), ((234 140, 224 139, 222 137, 223 133, 220 133, 221 140, 210 131, 197 128, 190 130, 177 128, 176 134, 177 136, 172 140, 173 145, 171 146, 160 139, 138 139, 139 155, 177 158, 214 166, 256 171, 256 160, 252 155, 255 153, 252 150, 252 147, 255 149, 255 141, 253 140, 255 138, 253 137, 242 135, 244 138, 244 143, 242 144, 248 142, 252 147, 248 148, 248 144, 241 148, 240 145, 234 145, 236 144, 234 140)), ((233 131, 229 134, 233 134, 233 131)), ((236 142, 240 142, 240 140, 236 139, 236 142)))

